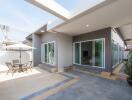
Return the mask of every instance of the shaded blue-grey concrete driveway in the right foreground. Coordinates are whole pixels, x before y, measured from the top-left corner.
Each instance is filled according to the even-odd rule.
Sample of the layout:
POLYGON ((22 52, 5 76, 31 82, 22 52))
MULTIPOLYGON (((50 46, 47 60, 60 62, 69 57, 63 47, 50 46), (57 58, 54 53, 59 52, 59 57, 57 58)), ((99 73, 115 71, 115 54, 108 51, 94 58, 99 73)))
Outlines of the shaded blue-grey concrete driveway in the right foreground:
POLYGON ((80 80, 46 100, 132 100, 132 87, 123 80, 108 80, 80 72, 72 72, 80 80))

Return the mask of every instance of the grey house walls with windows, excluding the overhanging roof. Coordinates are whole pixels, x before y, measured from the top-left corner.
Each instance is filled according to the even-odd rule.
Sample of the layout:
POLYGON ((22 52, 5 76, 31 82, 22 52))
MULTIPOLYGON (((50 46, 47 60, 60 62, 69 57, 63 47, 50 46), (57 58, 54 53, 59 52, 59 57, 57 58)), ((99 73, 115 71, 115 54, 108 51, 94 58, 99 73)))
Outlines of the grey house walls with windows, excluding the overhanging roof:
POLYGON ((58 71, 75 66, 112 72, 123 60, 125 44, 116 29, 109 27, 70 36, 52 31, 41 32, 42 28, 32 34, 32 45, 36 48, 33 50, 34 66, 43 64, 56 67, 58 71))

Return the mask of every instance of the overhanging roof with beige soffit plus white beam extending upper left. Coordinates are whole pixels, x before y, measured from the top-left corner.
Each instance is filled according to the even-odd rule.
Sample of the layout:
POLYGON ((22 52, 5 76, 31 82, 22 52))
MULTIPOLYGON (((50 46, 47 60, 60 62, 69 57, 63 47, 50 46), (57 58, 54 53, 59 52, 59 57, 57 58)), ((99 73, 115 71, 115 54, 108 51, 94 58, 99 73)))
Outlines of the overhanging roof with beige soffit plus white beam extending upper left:
POLYGON ((66 8, 55 2, 59 0, 26 1, 64 19, 65 22, 54 26, 53 30, 72 36, 132 23, 132 0, 105 0, 90 9, 83 9, 83 12, 72 17, 66 8))

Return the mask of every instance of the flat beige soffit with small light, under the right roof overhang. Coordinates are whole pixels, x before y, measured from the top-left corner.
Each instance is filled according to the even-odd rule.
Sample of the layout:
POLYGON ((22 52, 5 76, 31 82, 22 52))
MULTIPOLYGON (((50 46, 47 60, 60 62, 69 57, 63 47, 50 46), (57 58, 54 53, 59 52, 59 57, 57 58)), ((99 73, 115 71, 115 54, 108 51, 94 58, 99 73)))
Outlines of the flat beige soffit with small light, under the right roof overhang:
POLYGON ((121 27, 132 23, 132 0, 111 1, 113 2, 64 22, 54 30, 74 36, 106 27, 121 27), (87 24, 89 27, 86 27, 87 24))

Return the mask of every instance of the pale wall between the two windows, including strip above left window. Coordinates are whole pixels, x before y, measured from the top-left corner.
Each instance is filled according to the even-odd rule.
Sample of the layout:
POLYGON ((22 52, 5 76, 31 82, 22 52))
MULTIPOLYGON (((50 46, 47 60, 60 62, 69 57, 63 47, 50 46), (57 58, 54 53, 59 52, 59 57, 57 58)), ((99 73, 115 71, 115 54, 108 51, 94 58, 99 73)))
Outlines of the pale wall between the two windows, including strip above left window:
POLYGON ((42 43, 55 41, 55 59, 58 71, 72 65, 72 36, 61 33, 45 33, 42 43))

